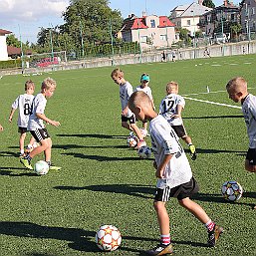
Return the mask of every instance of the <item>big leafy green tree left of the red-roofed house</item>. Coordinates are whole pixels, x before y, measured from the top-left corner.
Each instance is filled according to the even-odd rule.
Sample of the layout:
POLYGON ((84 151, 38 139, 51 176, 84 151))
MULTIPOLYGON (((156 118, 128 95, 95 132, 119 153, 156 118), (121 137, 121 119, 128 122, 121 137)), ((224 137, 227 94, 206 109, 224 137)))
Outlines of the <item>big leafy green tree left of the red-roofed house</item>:
POLYGON ((111 42, 111 28, 114 37, 123 19, 120 11, 113 11, 108 4, 108 0, 72 0, 63 14, 66 23, 61 32, 71 35, 78 49, 82 39, 85 44, 111 42))

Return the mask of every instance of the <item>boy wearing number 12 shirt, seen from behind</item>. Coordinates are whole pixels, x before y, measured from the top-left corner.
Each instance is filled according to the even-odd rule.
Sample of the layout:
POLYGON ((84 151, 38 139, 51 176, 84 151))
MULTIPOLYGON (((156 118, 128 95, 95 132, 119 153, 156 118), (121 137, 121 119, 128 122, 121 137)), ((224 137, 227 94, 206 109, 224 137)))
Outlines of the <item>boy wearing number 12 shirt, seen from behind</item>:
POLYGON ((167 120, 171 128, 175 130, 178 137, 181 137, 188 145, 191 159, 196 159, 195 146, 192 139, 187 135, 181 118, 181 112, 185 107, 185 100, 178 95, 178 84, 176 82, 169 82, 166 85, 167 96, 161 101, 159 107, 159 114, 167 120))

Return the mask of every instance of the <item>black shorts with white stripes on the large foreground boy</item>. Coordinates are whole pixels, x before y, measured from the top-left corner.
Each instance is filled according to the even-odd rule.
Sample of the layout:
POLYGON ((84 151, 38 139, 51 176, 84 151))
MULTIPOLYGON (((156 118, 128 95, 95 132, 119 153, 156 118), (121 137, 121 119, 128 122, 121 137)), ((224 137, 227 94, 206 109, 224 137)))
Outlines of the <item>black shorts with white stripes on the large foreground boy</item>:
POLYGON ((156 193, 154 195, 155 201, 167 202, 170 197, 175 197, 178 200, 184 199, 186 197, 190 197, 193 194, 199 191, 199 186, 196 180, 191 177, 190 181, 172 187, 165 187, 164 189, 156 188, 156 193))

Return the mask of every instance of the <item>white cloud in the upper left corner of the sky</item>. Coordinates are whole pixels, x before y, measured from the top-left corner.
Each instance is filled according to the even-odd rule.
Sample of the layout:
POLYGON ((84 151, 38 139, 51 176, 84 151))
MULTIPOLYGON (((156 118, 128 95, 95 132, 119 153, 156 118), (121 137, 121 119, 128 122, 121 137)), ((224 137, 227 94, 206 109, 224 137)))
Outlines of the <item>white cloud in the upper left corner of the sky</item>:
POLYGON ((1 0, 1 24, 38 21, 44 17, 61 17, 69 0, 1 0))

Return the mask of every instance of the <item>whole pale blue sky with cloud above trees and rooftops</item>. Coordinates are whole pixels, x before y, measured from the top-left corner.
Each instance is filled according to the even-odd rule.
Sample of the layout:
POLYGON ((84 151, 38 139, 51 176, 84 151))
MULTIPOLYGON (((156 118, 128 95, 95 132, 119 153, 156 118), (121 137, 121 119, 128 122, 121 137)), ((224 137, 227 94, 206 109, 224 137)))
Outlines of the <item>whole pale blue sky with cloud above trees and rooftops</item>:
MULTIPOLYGON (((94 1, 94 0, 92 0, 94 1)), ((124 18, 133 13, 141 16, 169 15, 170 10, 178 5, 190 4, 193 0, 110 0, 110 7, 119 10, 124 18)), ((194 0, 194 2, 197 2, 194 0)), ((215 6, 223 0, 213 0, 215 6)), ((238 4, 239 0, 233 0, 238 4)), ((62 25, 62 13, 69 6, 69 0, 0 0, 0 29, 11 31, 22 42, 37 42, 40 28, 62 25)))

